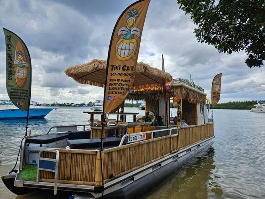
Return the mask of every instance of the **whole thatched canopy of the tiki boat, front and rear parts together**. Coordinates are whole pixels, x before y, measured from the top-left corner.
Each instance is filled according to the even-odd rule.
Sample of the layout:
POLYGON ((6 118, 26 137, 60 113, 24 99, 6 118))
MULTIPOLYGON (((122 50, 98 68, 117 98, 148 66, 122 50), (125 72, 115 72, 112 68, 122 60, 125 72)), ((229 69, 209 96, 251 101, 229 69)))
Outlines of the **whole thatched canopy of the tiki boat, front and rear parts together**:
MULTIPOLYGON (((104 87, 106 60, 94 59, 88 63, 66 69, 65 74, 81 84, 104 87)), ((185 79, 172 79, 169 73, 138 62, 134 87, 128 100, 160 100, 163 98, 163 85, 169 85, 167 97, 178 96, 193 104, 204 104, 206 93, 199 85, 185 79)), ((167 87, 167 86, 166 86, 167 87)))

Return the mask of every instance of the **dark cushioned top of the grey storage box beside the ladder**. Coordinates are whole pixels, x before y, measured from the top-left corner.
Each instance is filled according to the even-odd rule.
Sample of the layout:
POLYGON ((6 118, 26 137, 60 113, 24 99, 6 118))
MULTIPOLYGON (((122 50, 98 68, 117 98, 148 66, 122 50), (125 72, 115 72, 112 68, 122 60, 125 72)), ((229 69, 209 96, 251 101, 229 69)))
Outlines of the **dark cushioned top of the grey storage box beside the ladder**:
POLYGON ((47 135, 40 135, 26 139, 28 144, 49 144, 58 140, 67 139, 68 134, 64 133, 51 133, 47 135))

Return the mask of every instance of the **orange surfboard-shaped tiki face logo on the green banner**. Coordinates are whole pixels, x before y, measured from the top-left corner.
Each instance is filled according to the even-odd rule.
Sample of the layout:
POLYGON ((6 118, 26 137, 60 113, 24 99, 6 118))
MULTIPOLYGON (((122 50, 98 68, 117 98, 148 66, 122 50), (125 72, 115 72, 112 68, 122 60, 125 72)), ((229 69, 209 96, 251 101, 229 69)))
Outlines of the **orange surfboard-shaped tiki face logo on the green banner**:
POLYGON ((25 56, 25 50, 18 40, 15 48, 15 61, 14 61, 15 80, 20 88, 23 88, 27 81, 28 63, 25 56))

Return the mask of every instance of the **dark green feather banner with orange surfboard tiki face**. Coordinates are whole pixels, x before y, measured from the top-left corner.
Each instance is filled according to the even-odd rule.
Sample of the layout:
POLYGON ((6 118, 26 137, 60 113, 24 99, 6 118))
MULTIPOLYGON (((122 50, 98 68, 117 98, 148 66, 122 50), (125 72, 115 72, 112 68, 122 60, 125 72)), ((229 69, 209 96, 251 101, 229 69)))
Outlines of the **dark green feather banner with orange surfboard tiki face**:
POLYGON ((6 89, 20 110, 29 111, 31 60, 27 46, 15 33, 3 28, 6 43, 6 89))

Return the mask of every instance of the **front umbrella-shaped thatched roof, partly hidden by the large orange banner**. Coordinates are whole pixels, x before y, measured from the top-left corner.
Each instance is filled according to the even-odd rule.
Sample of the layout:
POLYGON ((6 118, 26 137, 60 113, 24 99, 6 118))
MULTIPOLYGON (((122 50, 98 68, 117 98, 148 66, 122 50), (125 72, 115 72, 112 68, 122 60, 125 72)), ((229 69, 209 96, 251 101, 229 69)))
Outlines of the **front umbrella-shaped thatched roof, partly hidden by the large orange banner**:
MULTIPOLYGON (((94 59, 86 64, 69 67, 65 73, 81 84, 104 87, 106 63, 106 60, 94 59)), ((171 80, 169 73, 140 62, 136 66, 133 88, 158 87, 171 80)))

